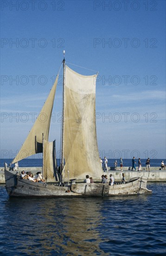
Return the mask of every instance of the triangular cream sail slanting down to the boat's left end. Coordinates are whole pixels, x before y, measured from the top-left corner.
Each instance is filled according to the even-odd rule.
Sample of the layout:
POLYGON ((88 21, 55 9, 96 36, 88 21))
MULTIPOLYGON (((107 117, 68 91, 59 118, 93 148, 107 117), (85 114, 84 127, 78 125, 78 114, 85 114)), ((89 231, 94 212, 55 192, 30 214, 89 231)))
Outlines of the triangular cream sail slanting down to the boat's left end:
POLYGON ((51 89, 50 94, 48 95, 45 104, 38 115, 37 120, 35 121, 29 135, 26 138, 26 141, 22 145, 19 153, 13 159, 12 163, 19 162, 20 160, 37 153, 43 152, 42 143, 43 136, 46 141, 48 141, 49 129, 50 129, 50 121, 51 121, 51 113, 54 103, 55 91, 57 87, 57 79, 51 89))

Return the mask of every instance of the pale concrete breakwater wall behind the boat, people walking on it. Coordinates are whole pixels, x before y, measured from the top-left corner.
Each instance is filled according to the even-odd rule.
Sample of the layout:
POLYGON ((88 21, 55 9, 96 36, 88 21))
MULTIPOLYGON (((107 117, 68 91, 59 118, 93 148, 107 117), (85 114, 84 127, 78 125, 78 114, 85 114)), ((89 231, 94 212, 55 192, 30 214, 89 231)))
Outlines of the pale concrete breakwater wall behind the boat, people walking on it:
MULTIPOLYGON (((131 178, 138 177, 138 176, 146 176, 148 178, 148 182, 166 182, 166 171, 160 170, 160 167, 151 167, 150 172, 146 171, 146 168, 142 168, 142 171, 131 171, 128 170, 128 167, 123 167, 123 171, 119 170, 113 170, 114 168, 109 168, 108 172, 103 172, 104 175, 107 175, 109 177, 110 173, 113 175, 115 182, 120 182, 122 173, 125 173, 126 180, 130 180, 131 178), (111 170, 112 169, 112 170, 111 170)), ((31 171, 33 175, 35 175, 37 172, 42 172, 42 167, 19 167, 18 172, 21 171, 31 171)), ((16 174, 16 171, 12 171, 13 174, 16 174)), ((87 171, 88 174, 88 171, 87 171)), ((81 182, 83 180, 77 180, 78 182, 81 182)), ((101 177, 98 177, 98 182, 101 181, 101 177)), ((0 167, 0 184, 5 183, 5 175, 4 175, 4 167, 0 167)))

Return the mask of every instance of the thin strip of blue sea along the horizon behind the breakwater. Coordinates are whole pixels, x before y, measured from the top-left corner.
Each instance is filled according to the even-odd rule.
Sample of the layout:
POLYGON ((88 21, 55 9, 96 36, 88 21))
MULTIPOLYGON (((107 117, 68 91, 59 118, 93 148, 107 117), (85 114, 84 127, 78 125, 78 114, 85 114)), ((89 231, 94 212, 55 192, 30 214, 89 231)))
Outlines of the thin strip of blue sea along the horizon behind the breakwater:
MULTIPOLYGON (((4 162, 7 164, 10 164, 13 159, 0 159, 0 167, 4 166, 4 162)), ((119 159, 108 159, 108 166, 114 167, 114 162, 117 160, 118 166, 120 166, 120 160, 119 159)), ((161 161, 164 161, 166 164, 166 159, 150 159, 150 166, 160 167, 161 161)), ((135 160, 135 162, 138 162, 138 159, 135 160)), ((146 159, 141 159, 142 166, 146 166, 146 159)), ((57 159, 57 165, 59 165, 59 159, 57 159)), ((42 166, 42 159, 23 159, 19 162, 19 167, 40 167, 42 166)), ((123 159, 123 166, 132 166, 132 159, 123 159)), ((13 164, 14 167, 14 164, 13 164)))

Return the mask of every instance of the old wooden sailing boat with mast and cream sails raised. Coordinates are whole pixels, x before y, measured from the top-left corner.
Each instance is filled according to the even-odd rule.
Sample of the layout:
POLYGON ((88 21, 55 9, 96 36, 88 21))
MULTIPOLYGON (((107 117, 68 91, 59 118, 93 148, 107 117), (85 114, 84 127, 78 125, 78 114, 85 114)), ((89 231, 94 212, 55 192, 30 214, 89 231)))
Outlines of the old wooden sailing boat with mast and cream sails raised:
POLYGON ((81 75, 63 60, 63 121, 60 167, 57 168, 55 141, 48 141, 56 81, 26 141, 11 164, 43 153, 45 183, 21 179, 5 163, 6 189, 10 196, 113 196, 151 193, 146 177, 135 177, 126 184, 83 183, 85 175, 98 180, 101 168, 96 137, 96 74, 81 75), (96 155, 96 154, 95 154, 96 155), (82 181, 77 183, 76 180, 82 181), (50 183, 51 182, 51 183, 50 183))

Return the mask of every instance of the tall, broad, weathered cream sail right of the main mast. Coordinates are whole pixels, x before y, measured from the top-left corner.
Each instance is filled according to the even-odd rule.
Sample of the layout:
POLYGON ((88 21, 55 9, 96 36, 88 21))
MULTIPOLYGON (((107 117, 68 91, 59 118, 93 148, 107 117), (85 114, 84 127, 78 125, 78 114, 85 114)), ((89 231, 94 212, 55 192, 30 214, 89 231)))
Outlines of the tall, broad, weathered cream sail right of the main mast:
POLYGON ((84 76, 66 66, 64 88, 64 159, 69 177, 100 177, 103 172, 96 138, 96 75, 84 76))

